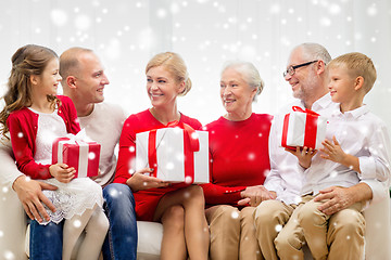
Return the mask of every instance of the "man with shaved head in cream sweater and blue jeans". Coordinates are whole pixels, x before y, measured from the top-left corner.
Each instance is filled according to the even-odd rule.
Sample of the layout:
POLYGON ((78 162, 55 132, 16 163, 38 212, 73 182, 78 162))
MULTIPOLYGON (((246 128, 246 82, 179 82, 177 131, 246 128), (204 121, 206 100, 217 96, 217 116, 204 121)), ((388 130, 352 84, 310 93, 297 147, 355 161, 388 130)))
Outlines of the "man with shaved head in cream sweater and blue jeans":
MULTIPOLYGON (((103 90, 109 84, 109 80, 101 62, 91 50, 72 48, 65 51, 60 57, 60 74, 63 78, 64 94, 70 96, 75 104, 80 127, 86 129, 87 135, 91 140, 101 144, 100 174, 96 181, 105 186, 114 179, 116 167, 114 147, 118 143, 122 125, 126 117, 118 106, 103 102, 103 90)), ((30 223, 30 259, 61 259, 63 223, 56 225, 50 222, 48 225, 40 225, 34 220, 36 218, 40 222, 41 217, 46 219, 49 217, 42 204, 54 209, 41 190, 55 190, 56 187, 28 180, 18 172, 4 146, 1 150, 0 158, 7 162, 8 169, 3 182, 13 183, 12 187, 17 193, 26 213, 33 220, 30 223)), ((105 199, 106 194, 103 191, 105 199)), ((104 259, 136 259, 137 226, 130 188, 126 194, 122 193, 116 196, 115 199, 130 203, 127 207, 127 218, 124 221, 115 221, 117 220, 116 216, 124 210, 117 208, 121 206, 113 202, 114 198, 106 199, 105 212, 111 226, 103 245, 103 257, 104 259)))

